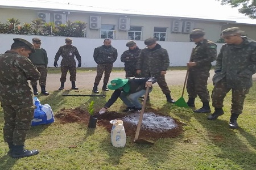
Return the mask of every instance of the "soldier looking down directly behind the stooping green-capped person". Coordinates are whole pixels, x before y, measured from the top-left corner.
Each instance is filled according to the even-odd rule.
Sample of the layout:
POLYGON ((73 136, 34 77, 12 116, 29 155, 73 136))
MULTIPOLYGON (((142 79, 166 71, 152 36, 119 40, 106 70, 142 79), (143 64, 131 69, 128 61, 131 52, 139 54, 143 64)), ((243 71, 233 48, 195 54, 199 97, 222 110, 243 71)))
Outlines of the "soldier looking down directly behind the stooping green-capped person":
POLYGON ((141 77, 155 77, 159 87, 162 89, 166 99, 170 103, 175 103, 171 98, 171 91, 166 83, 166 70, 170 65, 168 52, 156 42, 156 39, 150 37, 144 41, 146 48, 141 50, 137 61, 137 74, 141 77))

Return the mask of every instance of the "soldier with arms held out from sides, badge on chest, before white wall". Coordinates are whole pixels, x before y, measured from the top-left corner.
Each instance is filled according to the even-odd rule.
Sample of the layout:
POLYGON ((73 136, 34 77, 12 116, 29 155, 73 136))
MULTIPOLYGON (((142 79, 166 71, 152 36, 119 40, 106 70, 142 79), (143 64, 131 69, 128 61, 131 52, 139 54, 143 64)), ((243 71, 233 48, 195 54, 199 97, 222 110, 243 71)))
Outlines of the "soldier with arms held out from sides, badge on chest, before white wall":
POLYGON ((72 84, 72 89, 78 90, 79 88, 76 87, 76 61, 79 62, 77 67, 81 67, 81 56, 76 48, 76 46, 72 45, 72 40, 70 38, 65 39, 66 45, 60 46, 59 50, 57 51, 55 58, 54 58, 54 66, 57 67, 57 61, 59 60, 60 56, 62 56, 62 60, 60 63, 60 70, 61 70, 61 77, 60 77, 60 88, 59 90, 64 89, 64 83, 66 82, 66 76, 69 71, 70 78, 72 84))

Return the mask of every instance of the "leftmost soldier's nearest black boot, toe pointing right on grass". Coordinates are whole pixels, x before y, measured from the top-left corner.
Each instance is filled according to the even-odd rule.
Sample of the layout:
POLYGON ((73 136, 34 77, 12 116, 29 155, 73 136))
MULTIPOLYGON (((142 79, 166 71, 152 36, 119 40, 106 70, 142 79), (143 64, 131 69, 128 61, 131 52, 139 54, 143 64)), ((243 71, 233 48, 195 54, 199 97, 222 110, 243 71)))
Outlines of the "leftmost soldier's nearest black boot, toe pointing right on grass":
POLYGON ((24 158, 28 156, 37 155, 39 153, 38 150, 26 150, 24 145, 14 145, 13 151, 11 152, 11 157, 13 158, 24 158))

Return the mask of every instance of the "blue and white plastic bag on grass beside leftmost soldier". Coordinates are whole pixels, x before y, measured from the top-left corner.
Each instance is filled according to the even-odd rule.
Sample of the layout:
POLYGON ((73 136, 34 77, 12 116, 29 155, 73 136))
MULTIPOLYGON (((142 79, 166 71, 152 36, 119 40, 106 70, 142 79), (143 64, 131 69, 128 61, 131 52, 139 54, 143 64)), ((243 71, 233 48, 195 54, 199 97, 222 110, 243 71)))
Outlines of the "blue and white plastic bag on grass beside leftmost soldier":
POLYGON ((40 104, 38 97, 34 97, 33 100, 36 108, 34 118, 32 119, 32 126, 51 124, 54 122, 52 108, 48 104, 40 104))

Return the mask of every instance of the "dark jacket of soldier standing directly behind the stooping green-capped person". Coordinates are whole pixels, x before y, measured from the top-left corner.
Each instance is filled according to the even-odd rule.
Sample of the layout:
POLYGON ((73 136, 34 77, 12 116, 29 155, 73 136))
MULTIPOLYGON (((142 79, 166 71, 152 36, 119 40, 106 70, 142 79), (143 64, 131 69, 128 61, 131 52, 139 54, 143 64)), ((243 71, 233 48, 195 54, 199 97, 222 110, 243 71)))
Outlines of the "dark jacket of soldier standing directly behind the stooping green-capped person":
POLYGON ((168 52, 161 45, 155 48, 144 48, 139 54, 136 69, 141 70, 141 76, 160 76, 161 71, 166 71, 170 65, 168 52))

